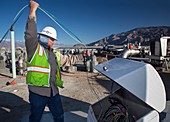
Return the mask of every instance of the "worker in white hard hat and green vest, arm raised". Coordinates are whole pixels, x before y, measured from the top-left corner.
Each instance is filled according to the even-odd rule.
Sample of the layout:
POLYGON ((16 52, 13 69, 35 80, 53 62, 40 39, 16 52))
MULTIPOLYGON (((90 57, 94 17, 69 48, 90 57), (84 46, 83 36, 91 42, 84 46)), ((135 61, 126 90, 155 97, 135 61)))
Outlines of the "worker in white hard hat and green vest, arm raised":
POLYGON ((62 55, 54 53, 52 46, 57 39, 57 32, 47 26, 37 32, 36 10, 39 4, 30 1, 30 12, 26 23, 25 45, 27 51, 26 83, 29 90, 30 116, 29 122, 39 122, 46 105, 52 113, 54 122, 64 121, 64 112, 59 94, 63 88, 60 66, 70 66, 83 60, 89 52, 79 55, 62 55))

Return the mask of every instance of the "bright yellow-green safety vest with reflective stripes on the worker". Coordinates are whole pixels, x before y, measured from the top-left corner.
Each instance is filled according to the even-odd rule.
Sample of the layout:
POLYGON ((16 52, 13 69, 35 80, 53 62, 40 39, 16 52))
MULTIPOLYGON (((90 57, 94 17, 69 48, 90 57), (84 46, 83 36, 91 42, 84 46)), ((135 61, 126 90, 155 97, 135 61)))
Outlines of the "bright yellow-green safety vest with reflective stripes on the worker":
MULTIPOLYGON (((56 85, 63 88, 63 81, 60 73, 60 53, 54 53, 57 58, 56 85)), ((37 49, 30 62, 27 61, 26 83, 33 86, 50 87, 50 64, 48 62, 47 53, 43 46, 38 44, 37 49)))

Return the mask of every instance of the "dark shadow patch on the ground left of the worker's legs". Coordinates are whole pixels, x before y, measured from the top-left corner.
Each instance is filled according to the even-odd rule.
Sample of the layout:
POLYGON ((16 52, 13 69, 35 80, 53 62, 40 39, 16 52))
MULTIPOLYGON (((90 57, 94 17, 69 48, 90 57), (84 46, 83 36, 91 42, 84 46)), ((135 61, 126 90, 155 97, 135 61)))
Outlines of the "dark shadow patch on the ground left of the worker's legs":
POLYGON ((12 93, 0 91, 0 122, 17 122, 25 111, 29 111, 29 103, 12 93))

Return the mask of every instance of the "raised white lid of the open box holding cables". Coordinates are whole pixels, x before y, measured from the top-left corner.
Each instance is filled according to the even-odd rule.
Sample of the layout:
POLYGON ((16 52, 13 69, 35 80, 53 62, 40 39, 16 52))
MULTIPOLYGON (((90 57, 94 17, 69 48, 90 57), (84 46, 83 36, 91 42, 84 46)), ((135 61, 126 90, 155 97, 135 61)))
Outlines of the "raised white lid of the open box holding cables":
POLYGON ((114 58, 97 65, 95 69, 158 112, 165 109, 165 87, 161 77, 152 65, 123 58, 114 58))

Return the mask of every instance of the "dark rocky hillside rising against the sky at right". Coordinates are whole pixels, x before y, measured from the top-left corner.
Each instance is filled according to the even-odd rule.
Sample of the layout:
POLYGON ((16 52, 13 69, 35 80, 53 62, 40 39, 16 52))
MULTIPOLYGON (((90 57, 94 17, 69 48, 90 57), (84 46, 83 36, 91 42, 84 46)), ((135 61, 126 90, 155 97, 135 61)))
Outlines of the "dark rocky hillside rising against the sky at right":
POLYGON ((128 42, 140 42, 141 45, 149 45, 151 39, 160 38, 161 36, 170 36, 170 26, 135 28, 127 32, 112 34, 88 45, 124 45, 128 42))

